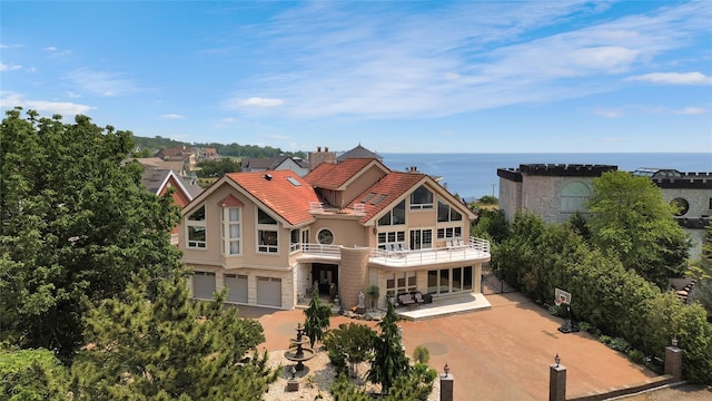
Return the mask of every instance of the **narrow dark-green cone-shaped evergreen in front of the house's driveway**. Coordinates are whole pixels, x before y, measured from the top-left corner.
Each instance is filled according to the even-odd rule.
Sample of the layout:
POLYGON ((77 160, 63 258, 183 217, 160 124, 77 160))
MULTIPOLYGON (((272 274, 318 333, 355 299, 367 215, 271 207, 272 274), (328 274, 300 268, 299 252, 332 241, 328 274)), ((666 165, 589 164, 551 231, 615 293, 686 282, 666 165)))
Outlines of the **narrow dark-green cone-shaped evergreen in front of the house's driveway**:
POLYGON ((382 393, 387 394, 396 379, 411 373, 408 358, 400 344, 398 330, 398 314, 395 306, 388 303, 388 311, 378 323, 380 334, 374 346, 374 358, 370 361, 367 379, 379 383, 382 393))

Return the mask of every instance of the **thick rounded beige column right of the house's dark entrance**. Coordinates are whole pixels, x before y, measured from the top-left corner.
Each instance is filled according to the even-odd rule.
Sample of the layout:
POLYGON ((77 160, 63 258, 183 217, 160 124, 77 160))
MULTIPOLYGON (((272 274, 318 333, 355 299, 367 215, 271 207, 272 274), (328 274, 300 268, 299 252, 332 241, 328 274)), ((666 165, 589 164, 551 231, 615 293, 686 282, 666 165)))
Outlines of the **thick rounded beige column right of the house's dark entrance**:
POLYGON ((342 262, 338 264, 338 297, 342 307, 348 310, 358 305, 358 293, 368 284, 368 248, 342 246, 342 262))

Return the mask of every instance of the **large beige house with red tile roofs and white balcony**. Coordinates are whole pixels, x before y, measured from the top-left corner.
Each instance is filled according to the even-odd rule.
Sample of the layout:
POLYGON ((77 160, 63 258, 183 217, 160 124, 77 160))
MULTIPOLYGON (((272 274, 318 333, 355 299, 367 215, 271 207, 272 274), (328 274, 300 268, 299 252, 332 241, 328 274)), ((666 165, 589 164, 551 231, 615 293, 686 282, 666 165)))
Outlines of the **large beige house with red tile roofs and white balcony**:
MULTIPOLYGON (((320 149, 319 149, 320 150, 320 149)), ((326 150, 328 151, 328 149, 326 150)), ((293 309, 314 283, 345 307, 375 284, 434 302, 479 293, 490 243, 469 237, 472 211, 429 176, 375 158, 227 174, 184 209, 179 229, 196 299, 293 309)))

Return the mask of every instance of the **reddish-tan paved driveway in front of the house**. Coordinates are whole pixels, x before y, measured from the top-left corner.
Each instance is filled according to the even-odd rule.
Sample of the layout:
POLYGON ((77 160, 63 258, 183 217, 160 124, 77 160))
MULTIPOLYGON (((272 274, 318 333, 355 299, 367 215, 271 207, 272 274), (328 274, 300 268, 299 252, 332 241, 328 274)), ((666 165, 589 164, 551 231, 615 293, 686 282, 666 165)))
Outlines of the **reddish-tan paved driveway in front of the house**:
MULTIPOLYGON (((567 368, 567 395, 633 385, 654 373, 592 340, 586 333, 562 334, 562 320, 550 315, 520 293, 487 295, 491 309, 403 321, 406 353, 418 345, 429 350, 429 365, 442 373, 447 363, 455 378, 455 400, 546 400, 548 366, 560 354, 567 368)), ((267 350, 288 348, 304 311, 270 311, 240 306, 240 315, 256 317, 265 327, 267 350)), ((334 316, 332 326, 359 322, 334 316)))

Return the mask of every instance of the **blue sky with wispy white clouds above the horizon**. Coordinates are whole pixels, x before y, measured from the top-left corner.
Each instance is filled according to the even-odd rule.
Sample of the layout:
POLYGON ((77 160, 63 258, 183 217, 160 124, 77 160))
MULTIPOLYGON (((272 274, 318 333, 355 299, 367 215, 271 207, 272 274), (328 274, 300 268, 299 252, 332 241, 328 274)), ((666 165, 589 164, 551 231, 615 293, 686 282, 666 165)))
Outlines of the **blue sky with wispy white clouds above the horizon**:
POLYGON ((2 1, 0 108, 284 150, 712 153, 710 1, 2 1))

